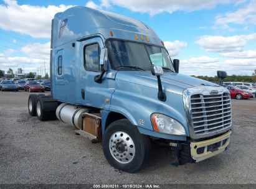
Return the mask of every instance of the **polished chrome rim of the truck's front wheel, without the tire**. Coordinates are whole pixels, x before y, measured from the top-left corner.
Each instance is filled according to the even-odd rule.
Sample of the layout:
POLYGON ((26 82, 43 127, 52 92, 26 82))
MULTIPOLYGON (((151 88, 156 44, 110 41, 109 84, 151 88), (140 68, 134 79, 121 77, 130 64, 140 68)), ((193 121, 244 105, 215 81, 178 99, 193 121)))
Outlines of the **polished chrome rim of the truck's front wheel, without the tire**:
POLYGON ((112 157, 121 164, 128 164, 135 157, 135 144, 126 132, 112 134, 109 147, 112 157))

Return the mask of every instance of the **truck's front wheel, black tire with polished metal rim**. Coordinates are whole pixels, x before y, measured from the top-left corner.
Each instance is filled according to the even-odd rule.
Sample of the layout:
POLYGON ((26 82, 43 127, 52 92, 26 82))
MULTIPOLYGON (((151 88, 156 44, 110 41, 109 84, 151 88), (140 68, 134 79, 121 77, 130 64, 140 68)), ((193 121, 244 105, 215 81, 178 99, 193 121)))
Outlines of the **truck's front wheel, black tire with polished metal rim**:
POLYGON ((112 122, 103 136, 103 152, 110 165, 125 172, 136 172, 146 162, 149 138, 140 134, 127 119, 112 122))

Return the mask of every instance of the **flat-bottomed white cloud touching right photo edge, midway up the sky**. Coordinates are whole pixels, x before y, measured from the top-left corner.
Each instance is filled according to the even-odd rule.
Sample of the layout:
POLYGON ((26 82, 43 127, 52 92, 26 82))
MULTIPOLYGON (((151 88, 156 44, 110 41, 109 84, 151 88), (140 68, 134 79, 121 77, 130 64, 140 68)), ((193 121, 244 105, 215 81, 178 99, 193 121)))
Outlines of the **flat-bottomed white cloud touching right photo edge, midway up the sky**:
POLYGON ((234 52, 243 50, 248 40, 256 40, 256 33, 230 37, 203 35, 196 43, 208 52, 234 52))

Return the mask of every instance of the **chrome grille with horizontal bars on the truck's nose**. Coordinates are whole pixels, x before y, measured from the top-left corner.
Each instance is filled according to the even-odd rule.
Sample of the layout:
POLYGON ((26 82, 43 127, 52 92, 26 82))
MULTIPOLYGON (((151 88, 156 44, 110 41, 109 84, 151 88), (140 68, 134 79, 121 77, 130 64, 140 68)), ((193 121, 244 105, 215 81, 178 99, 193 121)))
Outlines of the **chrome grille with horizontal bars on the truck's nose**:
POLYGON ((229 127, 232 119, 230 94, 192 94, 191 115, 195 134, 206 134, 229 127))

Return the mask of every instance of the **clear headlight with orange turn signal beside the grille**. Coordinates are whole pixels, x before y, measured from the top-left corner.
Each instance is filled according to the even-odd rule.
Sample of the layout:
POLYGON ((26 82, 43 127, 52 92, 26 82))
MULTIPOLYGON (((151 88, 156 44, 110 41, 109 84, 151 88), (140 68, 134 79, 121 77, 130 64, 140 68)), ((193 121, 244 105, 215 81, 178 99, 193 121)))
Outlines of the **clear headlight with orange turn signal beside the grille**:
POLYGON ((154 113, 151 115, 151 122, 156 132, 186 136, 183 125, 169 116, 154 113))

